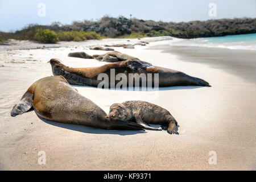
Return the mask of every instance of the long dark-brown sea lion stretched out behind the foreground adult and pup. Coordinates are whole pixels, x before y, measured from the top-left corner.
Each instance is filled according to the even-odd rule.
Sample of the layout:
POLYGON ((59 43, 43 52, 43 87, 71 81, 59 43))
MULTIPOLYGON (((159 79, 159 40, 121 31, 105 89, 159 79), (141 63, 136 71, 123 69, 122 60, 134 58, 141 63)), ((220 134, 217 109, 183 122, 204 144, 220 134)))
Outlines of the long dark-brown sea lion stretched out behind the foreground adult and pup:
MULTIPOLYGON (((109 88, 115 88, 115 86, 120 82, 118 79, 112 80, 112 73, 114 71, 114 78, 118 73, 123 73, 127 78, 127 86, 129 85, 129 80, 139 80, 139 85, 129 85, 129 86, 155 86, 154 79, 155 73, 158 73, 158 85, 159 87, 164 86, 186 86, 186 85, 197 85, 197 86, 210 86, 207 81, 202 80, 201 78, 196 78, 189 76, 183 72, 175 71, 173 69, 162 68, 153 66, 150 63, 137 60, 137 59, 128 59, 126 61, 119 61, 117 63, 105 64, 100 67, 90 67, 90 68, 69 68, 64 64, 61 64, 60 61, 56 59, 51 59, 49 63, 52 66, 53 75, 62 75, 64 76, 69 84, 75 85, 89 85, 89 86, 98 86, 102 80, 98 80, 98 75, 100 73, 106 73, 109 80, 107 81, 109 88), (133 73, 133 74, 130 74, 133 73), (135 74, 138 73, 138 74, 135 74), (140 76, 144 73, 145 79, 143 82, 140 80, 140 76), (151 73, 150 75, 148 75, 151 73), (130 75, 130 77, 129 77, 130 75), (148 80, 150 79, 151 81, 148 80), (146 84, 146 85, 145 85, 146 84)), ((142 75, 143 76, 143 75, 142 75)), ((104 80, 105 81, 105 80, 104 80)), ((157 80, 156 80, 157 81, 157 80)), ((125 82, 125 81, 123 81, 125 82)), ((138 84, 138 82, 137 82, 138 84)), ((106 85, 105 85, 106 86, 106 85)))

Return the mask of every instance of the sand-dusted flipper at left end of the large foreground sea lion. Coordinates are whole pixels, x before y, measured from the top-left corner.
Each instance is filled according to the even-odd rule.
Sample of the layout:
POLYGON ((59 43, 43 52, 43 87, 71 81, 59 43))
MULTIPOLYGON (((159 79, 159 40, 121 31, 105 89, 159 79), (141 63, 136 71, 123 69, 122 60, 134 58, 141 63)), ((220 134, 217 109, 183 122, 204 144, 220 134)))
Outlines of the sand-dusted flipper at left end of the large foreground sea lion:
POLYGON ((18 104, 15 104, 13 110, 11 110, 11 116, 14 117, 18 114, 26 113, 32 107, 34 94, 30 92, 24 93, 18 104))

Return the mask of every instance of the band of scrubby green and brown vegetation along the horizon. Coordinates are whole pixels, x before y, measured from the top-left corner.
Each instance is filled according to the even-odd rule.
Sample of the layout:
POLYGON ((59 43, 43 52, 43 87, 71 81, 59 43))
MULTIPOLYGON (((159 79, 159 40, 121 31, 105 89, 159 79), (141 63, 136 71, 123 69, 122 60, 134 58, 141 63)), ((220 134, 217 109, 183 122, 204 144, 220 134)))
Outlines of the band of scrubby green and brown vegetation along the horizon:
POLYGON ((102 38, 143 38, 146 36, 174 36, 176 38, 202 38, 256 32, 256 18, 216 19, 192 22, 155 22, 123 16, 104 16, 97 21, 85 20, 49 26, 30 24, 15 32, 0 32, 0 43, 7 39, 35 40, 40 43, 82 41, 102 38))

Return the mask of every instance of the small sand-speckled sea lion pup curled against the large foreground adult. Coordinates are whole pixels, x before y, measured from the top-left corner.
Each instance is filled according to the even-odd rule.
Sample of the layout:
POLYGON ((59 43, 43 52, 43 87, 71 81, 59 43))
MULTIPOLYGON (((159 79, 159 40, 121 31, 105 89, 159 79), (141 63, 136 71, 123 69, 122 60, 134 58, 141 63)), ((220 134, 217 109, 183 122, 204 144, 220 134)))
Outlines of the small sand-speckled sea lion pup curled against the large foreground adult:
POLYGON ((170 134, 177 133, 177 121, 170 112, 150 102, 145 101, 126 101, 122 104, 116 103, 110 106, 110 119, 121 121, 133 121, 150 130, 160 130, 149 126, 147 123, 162 125, 162 129, 170 134))

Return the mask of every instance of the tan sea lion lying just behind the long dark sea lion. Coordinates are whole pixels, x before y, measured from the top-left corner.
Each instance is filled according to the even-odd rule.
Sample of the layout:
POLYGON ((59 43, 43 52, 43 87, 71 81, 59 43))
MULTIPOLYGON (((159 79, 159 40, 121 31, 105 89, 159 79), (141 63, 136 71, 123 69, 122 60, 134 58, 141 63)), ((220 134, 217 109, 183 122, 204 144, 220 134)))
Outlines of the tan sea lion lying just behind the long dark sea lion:
POLYGON ((125 61, 127 59, 138 59, 137 57, 126 55, 125 53, 121 53, 118 51, 107 52, 103 55, 93 55, 93 57, 98 61, 105 61, 110 63, 125 61))

